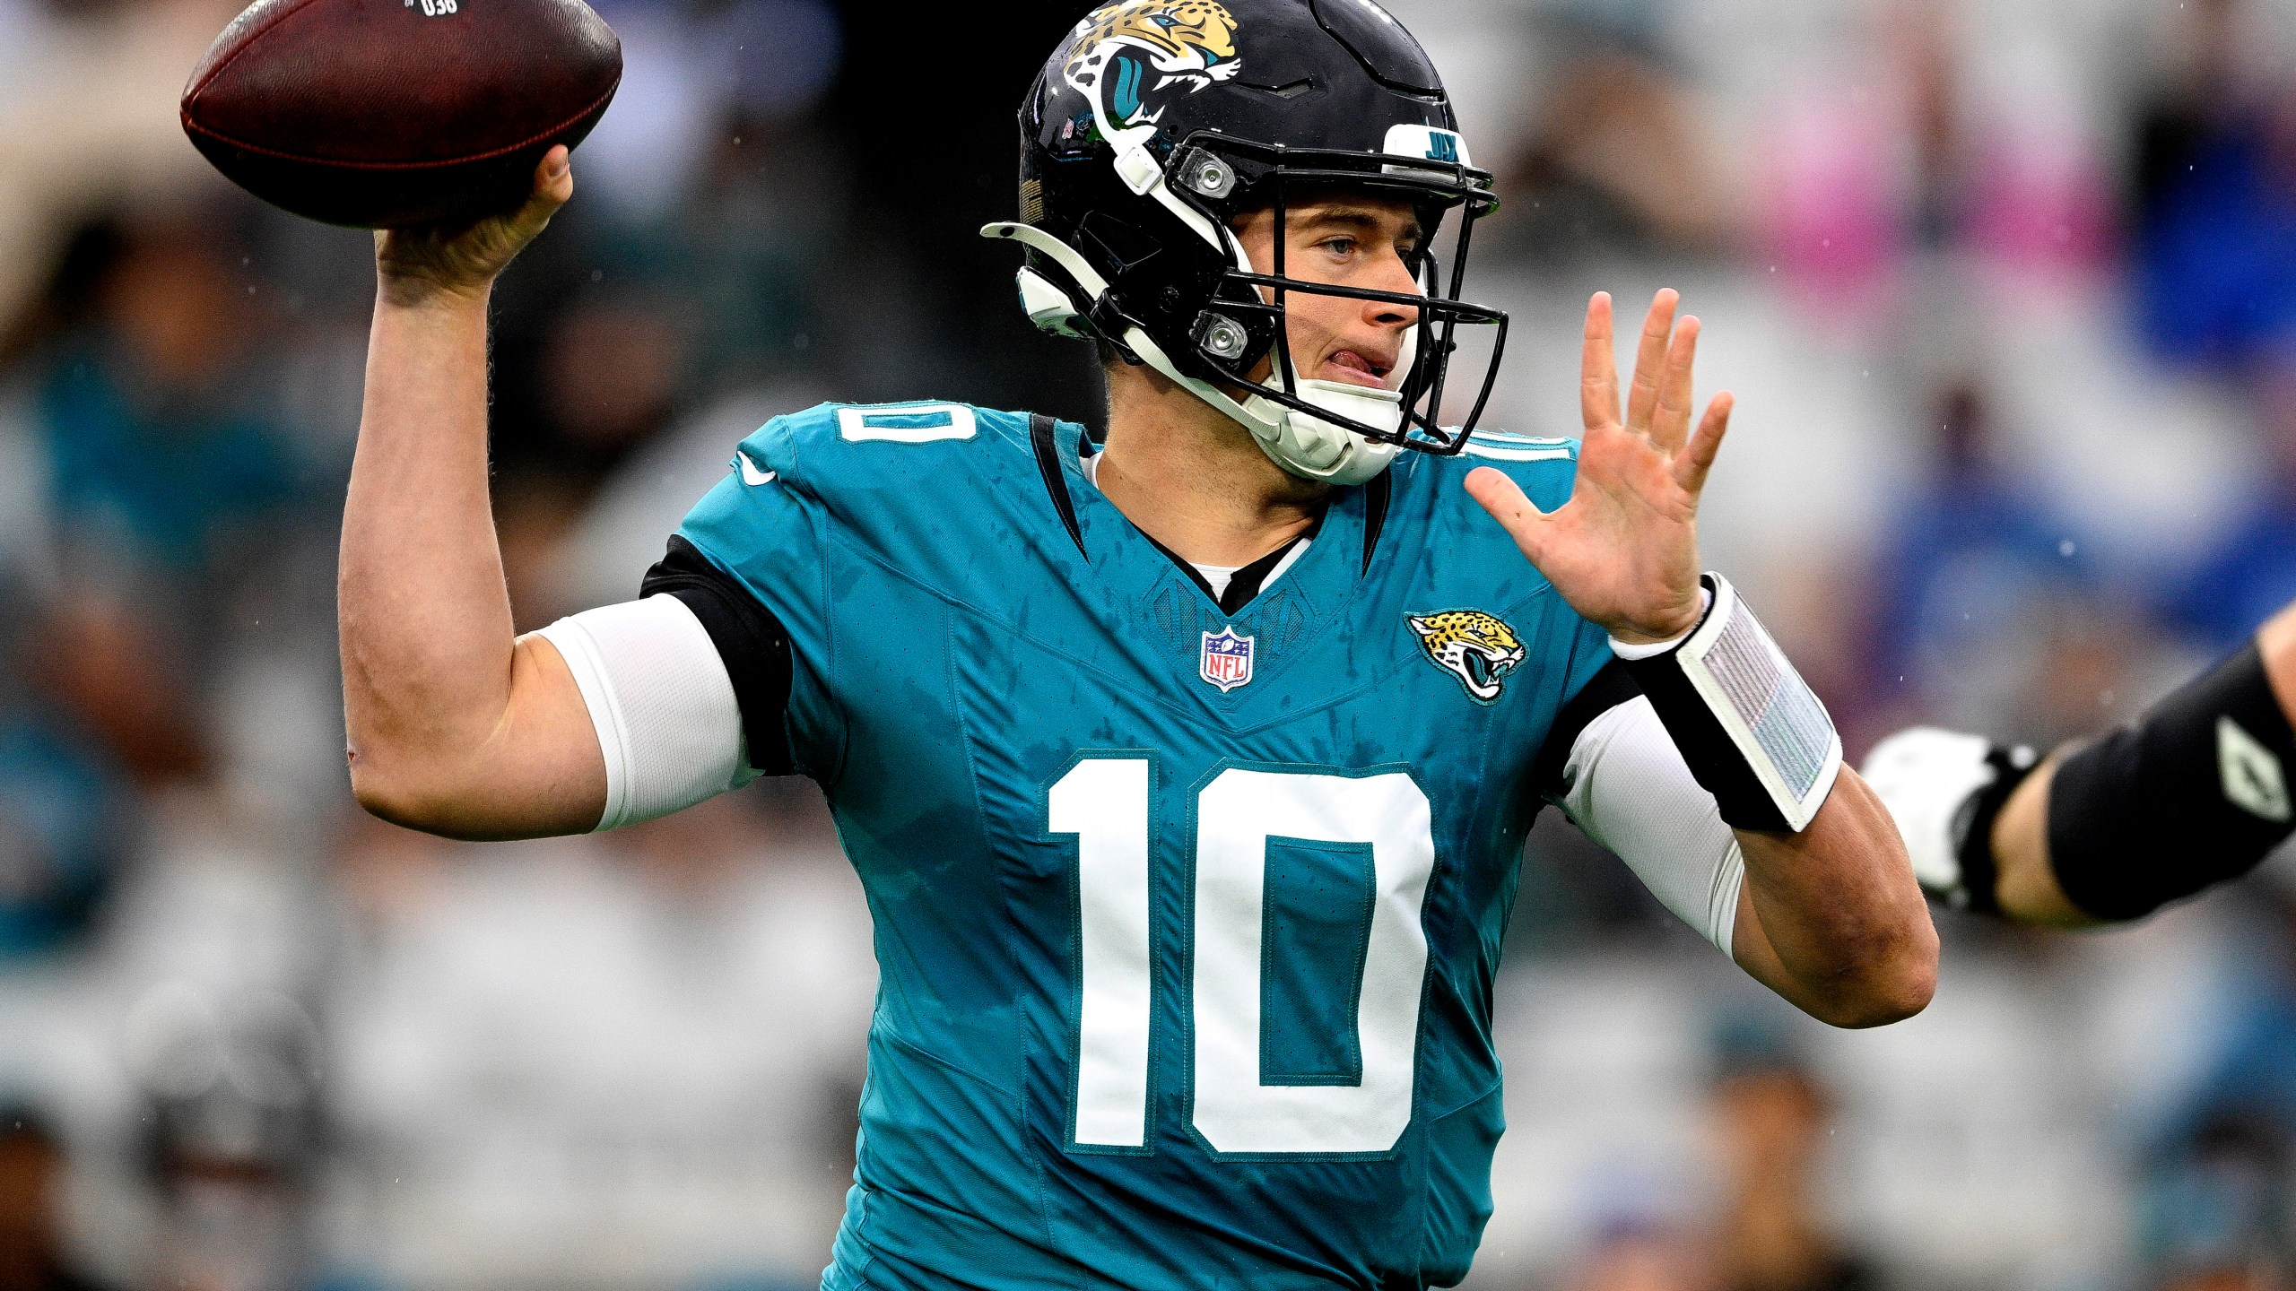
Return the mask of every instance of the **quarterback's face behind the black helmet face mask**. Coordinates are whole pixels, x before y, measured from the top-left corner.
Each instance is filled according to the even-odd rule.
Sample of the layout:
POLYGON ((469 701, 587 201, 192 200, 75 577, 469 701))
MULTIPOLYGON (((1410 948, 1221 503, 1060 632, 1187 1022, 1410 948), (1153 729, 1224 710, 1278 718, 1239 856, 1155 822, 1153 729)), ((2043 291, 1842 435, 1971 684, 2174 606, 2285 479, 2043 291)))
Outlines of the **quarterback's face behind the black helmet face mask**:
MULTIPOLYGON (((1251 266, 1274 273, 1277 216, 1251 211, 1235 225, 1251 266)), ((1419 216, 1410 202, 1375 195, 1332 193, 1302 200, 1283 211, 1283 273, 1306 283, 1329 283, 1366 292, 1421 294, 1412 278, 1419 253, 1419 216)), ((1288 292, 1293 363, 1300 377, 1355 386, 1403 384, 1403 335, 1419 310, 1352 296, 1288 292)), ((1254 379, 1274 368, 1261 363, 1254 379)))

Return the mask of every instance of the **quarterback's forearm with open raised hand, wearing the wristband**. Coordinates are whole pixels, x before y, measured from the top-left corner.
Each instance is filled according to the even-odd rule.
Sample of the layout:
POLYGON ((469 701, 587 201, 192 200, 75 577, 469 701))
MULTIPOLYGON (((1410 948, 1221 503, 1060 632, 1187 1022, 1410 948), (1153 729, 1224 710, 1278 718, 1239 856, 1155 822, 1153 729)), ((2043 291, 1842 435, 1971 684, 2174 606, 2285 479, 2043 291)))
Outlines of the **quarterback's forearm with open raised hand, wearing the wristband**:
POLYGON ((1674 292, 1651 306, 1621 418, 1609 296, 1589 306, 1587 436, 1568 503, 1541 512, 1495 469, 1467 476, 1467 489, 1570 609, 1609 629, 1733 827, 1745 855, 1736 960, 1825 1022, 1894 1022, 1929 1004, 1938 937, 1890 813, 1839 767, 1823 708, 1731 586, 1699 574, 1699 492, 1722 448, 1731 395, 1717 395, 1692 432, 1699 319, 1676 326, 1674 308, 1674 292), (1784 737, 1756 737, 1738 721, 1724 659, 1733 648, 1782 668, 1770 712, 1791 717, 1802 705, 1812 719, 1786 721, 1784 737), (1814 774, 1795 774, 1802 763, 1814 774))

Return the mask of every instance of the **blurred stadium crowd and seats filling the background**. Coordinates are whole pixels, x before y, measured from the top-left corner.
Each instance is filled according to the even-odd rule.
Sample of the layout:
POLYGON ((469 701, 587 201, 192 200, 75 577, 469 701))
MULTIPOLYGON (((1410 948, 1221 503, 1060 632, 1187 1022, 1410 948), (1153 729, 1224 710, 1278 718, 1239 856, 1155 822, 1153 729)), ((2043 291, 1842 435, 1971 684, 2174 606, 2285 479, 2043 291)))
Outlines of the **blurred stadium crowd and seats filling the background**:
MULTIPOLYGON (((177 131, 232 9, 0 0, 0 1291, 810 1286, 872 995, 820 795, 494 848, 349 799, 370 246, 177 131)), ((521 627, 774 411, 1097 418, 974 237, 1081 0, 599 9, 622 94, 496 296, 521 627)), ((2296 7, 1394 9, 1504 184, 1490 423, 1573 432, 1584 296, 1681 287, 1743 409, 1706 558, 1853 756, 2096 728, 2296 597, 2296 7)), ((1472 1286, 2296 1286, 2289 873, 1940 914, 1931 1011, 1832 1034, 1545 820, 1472 1286)))

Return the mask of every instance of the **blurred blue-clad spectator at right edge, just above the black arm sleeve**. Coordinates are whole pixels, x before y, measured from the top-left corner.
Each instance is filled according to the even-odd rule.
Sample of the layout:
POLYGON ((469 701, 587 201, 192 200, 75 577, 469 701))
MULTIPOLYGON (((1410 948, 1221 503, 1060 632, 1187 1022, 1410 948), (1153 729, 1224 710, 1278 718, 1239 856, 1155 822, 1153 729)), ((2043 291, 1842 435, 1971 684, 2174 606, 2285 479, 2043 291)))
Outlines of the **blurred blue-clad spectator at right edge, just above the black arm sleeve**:
POLYGON ((2170 618, 2211 652, 2234 650, 2296 600, 2296 363, 2250 379, 2255 473, 2243 515, 2170 595, 2170 618))

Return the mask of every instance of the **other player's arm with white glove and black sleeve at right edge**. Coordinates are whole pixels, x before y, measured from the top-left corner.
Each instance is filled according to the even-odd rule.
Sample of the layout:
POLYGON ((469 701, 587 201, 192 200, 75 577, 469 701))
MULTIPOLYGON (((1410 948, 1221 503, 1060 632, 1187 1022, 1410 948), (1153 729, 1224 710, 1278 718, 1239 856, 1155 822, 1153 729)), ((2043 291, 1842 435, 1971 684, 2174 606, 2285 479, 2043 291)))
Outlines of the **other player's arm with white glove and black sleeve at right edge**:
POLYGON ((1874 749, 1867 770, 1931 894, 2016 923, 2085 928, 2239 878, 2285 841, 2296 827, 2291 724, 2296 604, 2135 724, 2039 765, 1984 737, 1908 730, 1874 749), (2262 779, 2241 793, 2243 774, 2262 779))

